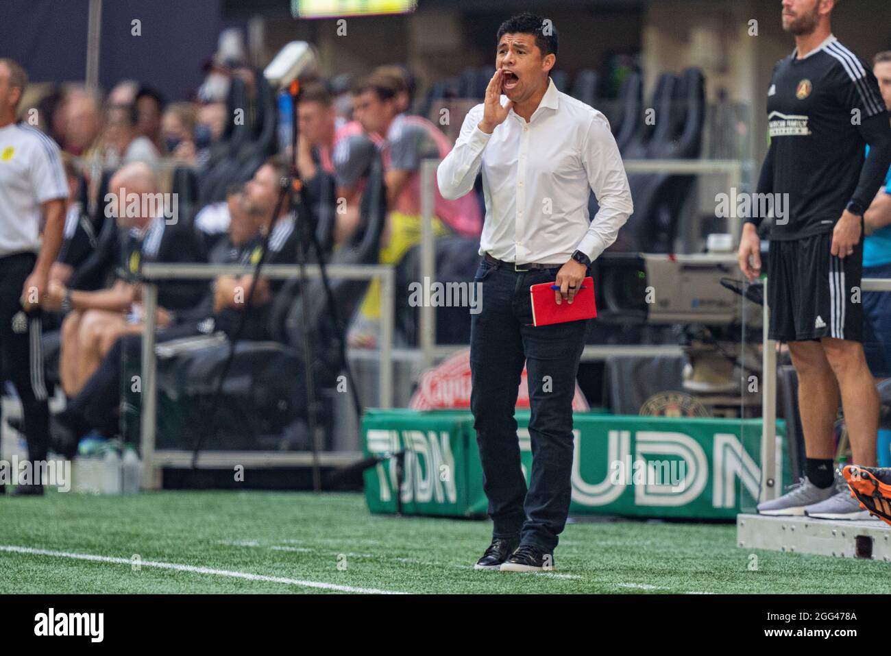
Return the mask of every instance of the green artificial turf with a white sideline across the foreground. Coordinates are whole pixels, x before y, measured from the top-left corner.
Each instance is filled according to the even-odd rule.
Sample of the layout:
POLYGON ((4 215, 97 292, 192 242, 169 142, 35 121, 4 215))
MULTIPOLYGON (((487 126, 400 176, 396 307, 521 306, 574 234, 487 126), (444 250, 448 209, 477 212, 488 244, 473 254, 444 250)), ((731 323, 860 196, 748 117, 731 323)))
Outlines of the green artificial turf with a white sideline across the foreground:
POLYGON ((372 515, 358 494, 6 495, 0 592, 339 592, 2 550, 15 546, 408 593, 891 593, 887 562, 753 552, 734 545, 735 532, 732 524, 570 523, 553 572, 512 574, 472 569, 489 522, 372 515))

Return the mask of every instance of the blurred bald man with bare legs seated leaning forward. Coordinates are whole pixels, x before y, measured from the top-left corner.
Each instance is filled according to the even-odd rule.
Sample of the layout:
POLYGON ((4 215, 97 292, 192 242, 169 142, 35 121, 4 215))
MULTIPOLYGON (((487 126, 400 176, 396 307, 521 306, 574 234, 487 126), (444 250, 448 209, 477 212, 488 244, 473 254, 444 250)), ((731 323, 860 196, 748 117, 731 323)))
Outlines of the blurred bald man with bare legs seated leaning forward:
MULTIPOLYGON (((143 259, 159 262, 200 262, 203 252, 190 228, 167 225, 162 216, 151 217, 146 194, 158 193, 154 172, 144 163, 121 168, 110 183, 119 228, 117 280, 109 289, 70 290, 53 281, 45 307, 67 313, 61 328, 60 377, 66 395, 76 394, 95 371, 102 357, 121 334, 142 330, 141 288, 137 282, 143 259), (139 200, 135 203, 133 199, 139 200), (136 215, 136 216, 133 216, 136 215)), ((151 203, 153 205, 153 203, 151 203)), ((171 282, 159 285, 159 324, 171 323, 170 311, 192 307, 204 283, 171 282)))

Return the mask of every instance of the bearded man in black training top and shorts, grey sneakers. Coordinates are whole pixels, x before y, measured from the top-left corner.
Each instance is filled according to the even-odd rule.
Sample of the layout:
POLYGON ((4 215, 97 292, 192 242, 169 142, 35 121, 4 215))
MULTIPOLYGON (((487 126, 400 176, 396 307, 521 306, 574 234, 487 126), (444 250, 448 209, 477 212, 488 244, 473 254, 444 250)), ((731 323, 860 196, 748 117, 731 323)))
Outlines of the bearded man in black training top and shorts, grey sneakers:
MULTIPOLYGON (((767 92, 771 145, 757 192, 771 194, 775 209, 769 334, 789 343, 807 457, 805 478, 757 509, 859 520, 869 513, 834 476, 833 422, 840 389, 853 462, 874 465, 879 398, 861 343, 863 213, 891 163, 891 127, 875 76, 832 36, 835 3, 783 0, 782 26, 796 48, 777 62, 767 92)), ((761 269, 761 218, 747 219, 740 240, 749 280, 761 269)))

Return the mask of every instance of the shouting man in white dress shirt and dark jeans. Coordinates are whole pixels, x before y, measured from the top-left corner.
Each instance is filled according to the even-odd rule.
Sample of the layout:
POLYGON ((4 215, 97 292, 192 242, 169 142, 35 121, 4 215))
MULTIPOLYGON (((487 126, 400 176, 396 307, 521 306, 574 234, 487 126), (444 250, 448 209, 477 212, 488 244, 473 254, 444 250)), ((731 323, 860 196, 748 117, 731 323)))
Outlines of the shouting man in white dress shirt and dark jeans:
POLYGON ((549 77, 557 54, 551 21, 514 16, 497 43, 486 101, 464 119, 437 181, 445 198, 458 198, 482 169, 486 196, 470 410, 494 529, 477 569, 551 570, 569 511, 572 398, 588 322, 534 326, 529 286, 556 282, 556 302, 571 303, 633 206, 609 122, 549 77), (591 191, 600 204, 593 220, 591 191), (534 453, 528 490, 514 419, 524 362, 534 453))

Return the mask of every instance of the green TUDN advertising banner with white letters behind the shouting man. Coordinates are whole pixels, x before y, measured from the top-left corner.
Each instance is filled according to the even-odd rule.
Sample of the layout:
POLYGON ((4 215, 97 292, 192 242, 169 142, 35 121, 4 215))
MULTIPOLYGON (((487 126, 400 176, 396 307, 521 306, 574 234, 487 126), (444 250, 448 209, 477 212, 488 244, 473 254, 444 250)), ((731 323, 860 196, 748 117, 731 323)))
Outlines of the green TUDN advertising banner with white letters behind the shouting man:
MULTIPOLYGON (((532 466, 528 411, 517 411, 527 483, 532 466)), ((403 512, 486 515, 473 416, 466 410, 370 409, 366 455, 405 449, 403 512)), ((761 480, 761 420, 576 413, 573 514, 733 520, 750 512, 761 480)), ((789 482, 785 423, 777 422, 780 485, 789 482)), ((365 471, 371 512, 396 512, 396 458, 365 471)))

